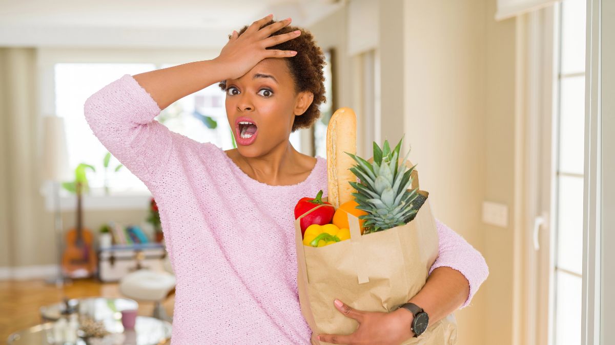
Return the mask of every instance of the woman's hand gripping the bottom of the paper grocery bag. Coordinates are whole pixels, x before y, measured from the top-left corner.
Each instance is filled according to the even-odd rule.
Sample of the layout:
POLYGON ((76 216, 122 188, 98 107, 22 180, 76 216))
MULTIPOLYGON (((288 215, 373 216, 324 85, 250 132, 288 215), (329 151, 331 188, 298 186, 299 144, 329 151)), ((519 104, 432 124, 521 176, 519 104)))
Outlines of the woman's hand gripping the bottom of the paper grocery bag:
POLYGON ((410 328, 413 315, 406 309, 392 312, 360 311, 335 300, 335 308, 344 316, 359 322, 359 327, 349 335, 321 334, 320 341, 332 344, 401 344, 415 334, 410 328))

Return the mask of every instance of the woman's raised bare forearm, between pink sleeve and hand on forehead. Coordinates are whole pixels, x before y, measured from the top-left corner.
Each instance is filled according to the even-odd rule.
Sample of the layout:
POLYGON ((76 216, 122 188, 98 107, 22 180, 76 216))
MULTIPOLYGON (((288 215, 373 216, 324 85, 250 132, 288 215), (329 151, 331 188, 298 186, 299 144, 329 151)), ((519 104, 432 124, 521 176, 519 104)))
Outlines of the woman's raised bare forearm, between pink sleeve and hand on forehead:
POLYGON ((204 60, 132 76, 160 109, 226 78, 217 61, 204 60))

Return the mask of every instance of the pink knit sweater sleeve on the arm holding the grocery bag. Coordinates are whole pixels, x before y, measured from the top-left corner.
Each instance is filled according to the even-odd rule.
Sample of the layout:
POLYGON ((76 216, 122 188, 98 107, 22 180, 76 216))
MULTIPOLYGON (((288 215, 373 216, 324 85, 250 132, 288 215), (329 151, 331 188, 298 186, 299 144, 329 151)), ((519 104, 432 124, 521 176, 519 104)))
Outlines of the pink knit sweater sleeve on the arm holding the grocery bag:
POLYGON ((435 220, 435 224, 438 230, 440 248, 438 249, 438 258, 435 260, 434 265, 431 266, 431 269, 429 269, 429 274, 434 269, 442 266, 461 272, 470 284, 470 293, 466 302, 459 307, 459 309, 465 308, 470 304, 472 297, 478 291, 478 287, 483 284, 489 275, 489 267, 483 255, 474 249, 461 235, 438 219, 435 220))

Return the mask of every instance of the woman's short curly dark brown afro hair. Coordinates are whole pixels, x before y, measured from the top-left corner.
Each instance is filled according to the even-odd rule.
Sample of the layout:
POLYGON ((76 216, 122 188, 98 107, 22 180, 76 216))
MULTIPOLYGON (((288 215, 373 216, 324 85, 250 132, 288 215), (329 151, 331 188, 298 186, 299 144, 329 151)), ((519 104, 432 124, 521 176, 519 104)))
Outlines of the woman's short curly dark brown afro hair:
MULTIPOLYGON (((270 20, 268 23, 261 26, 261 29, 273 23, 276 23, 276 21, 270 20)), ((239 36, 241 36, 247 28, 247 25, 244 26, 239 31, 239 36)), ((295 50, 297 55, 290 58, 283 58, 286 60, 290 74, 295 81, 295 93, 311 91, 314 94, 314 99, 312 99, 312 104, 310 104, 308 109, 306 109, 302 115, 295 115, 292 132, 300 128, 310 128, 320 117, 320 104, 327 102, 327 98, 325 97, 325 76, 323 73, 323 68, 326 64, 325 55, 322 53, 320 47, 316 45, 312 33, 303 28, 288 25, 271 34, 271 36, 290 33, 295 30, 301 31, 298 37, 267 48, 295 50)), ((218 86, 225 91, 226 80, 218 83, 218 86)))

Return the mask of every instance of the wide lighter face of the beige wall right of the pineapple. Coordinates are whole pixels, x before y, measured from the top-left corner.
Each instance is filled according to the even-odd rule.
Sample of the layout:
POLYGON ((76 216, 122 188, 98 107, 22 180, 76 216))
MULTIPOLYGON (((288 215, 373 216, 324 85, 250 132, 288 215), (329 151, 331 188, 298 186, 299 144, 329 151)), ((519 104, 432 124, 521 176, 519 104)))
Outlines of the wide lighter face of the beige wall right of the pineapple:
MULTIPOLYGON (((484 253, 485 1, 407 1, 404 18, 410 159, 435 217, 484 253)), ((455 313, 459 344, 485 344, 485 300, 455 313)))

